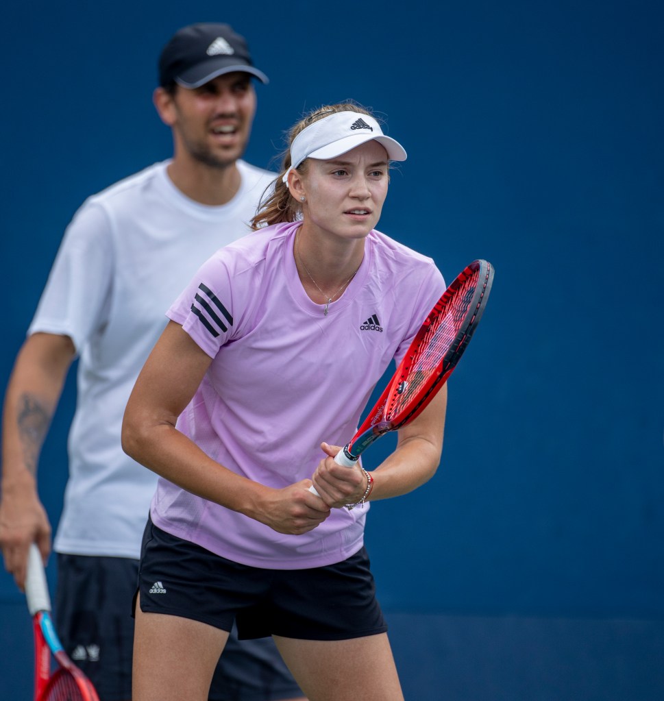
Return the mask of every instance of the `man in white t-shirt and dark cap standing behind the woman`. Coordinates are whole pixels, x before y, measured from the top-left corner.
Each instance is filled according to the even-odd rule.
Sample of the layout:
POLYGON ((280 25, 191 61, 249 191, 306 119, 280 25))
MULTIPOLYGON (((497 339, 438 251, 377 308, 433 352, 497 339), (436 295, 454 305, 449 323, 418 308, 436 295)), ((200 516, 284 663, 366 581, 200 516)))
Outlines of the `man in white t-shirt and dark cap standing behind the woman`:
MULTIPOLYGON (((131 696, 142 531, 156 475, 123 453, 125 404, 198 266, 248 233, 273 173, 240 160, 267 82, 228 25, 180 29, 163 48, 154 103, 172 159, 86 200, 69 224, 8 384, 3 420, 0 547, 20 587, 27 552, 50 550, 37 462, 72 360, 79 357, 69 480, 54 541, 57 631, 101 701, 131 696)), ((158 653, 158 651, 156 651, 158 653)), ((301 698, 271 639, 231 642, 213 701, 301 698)))

